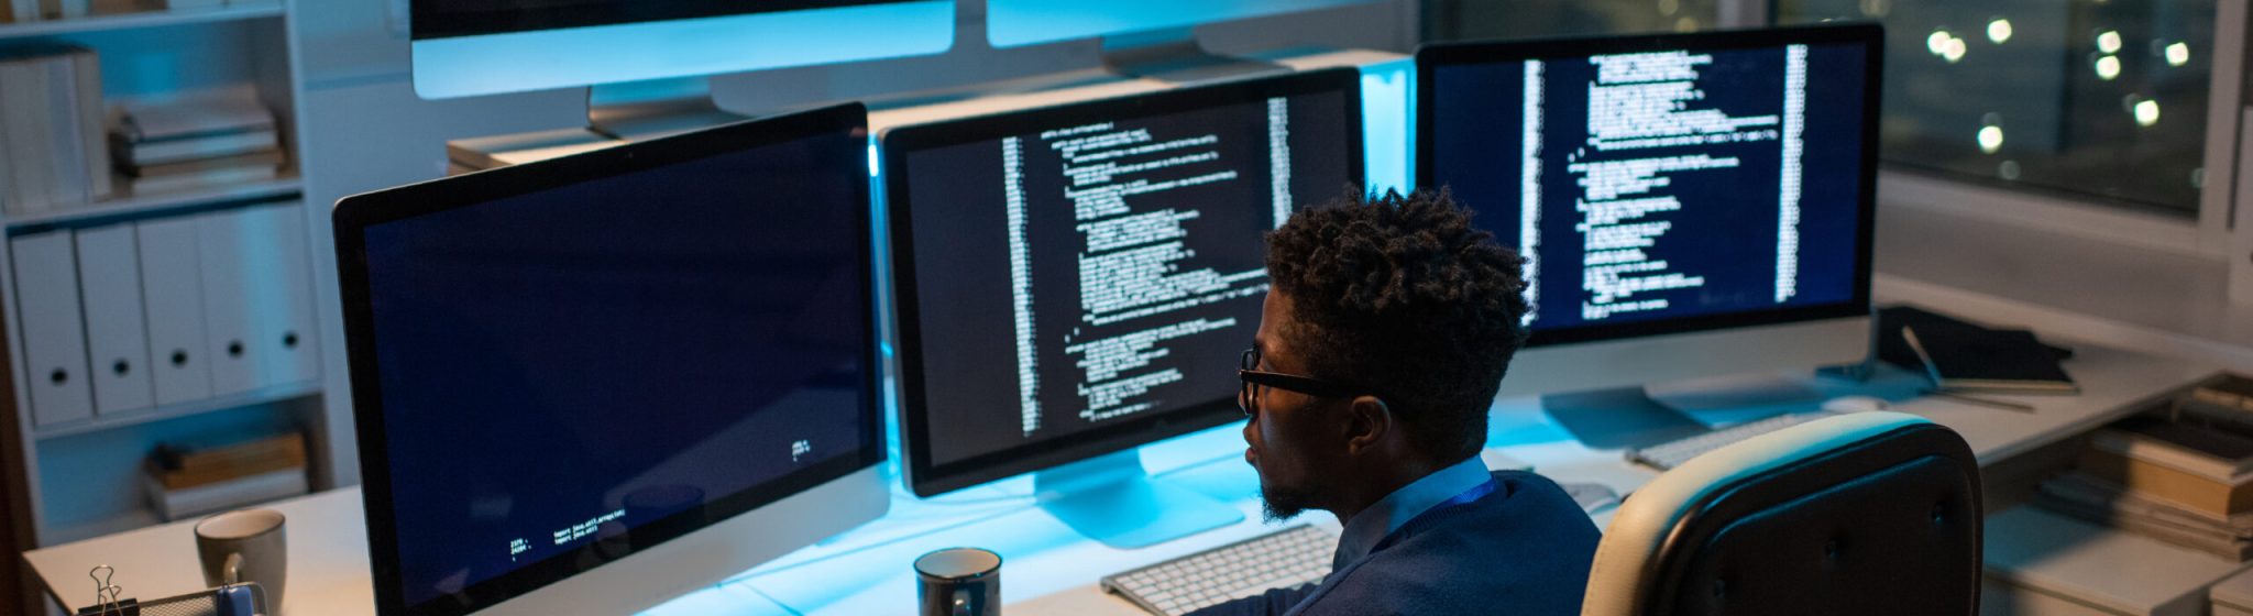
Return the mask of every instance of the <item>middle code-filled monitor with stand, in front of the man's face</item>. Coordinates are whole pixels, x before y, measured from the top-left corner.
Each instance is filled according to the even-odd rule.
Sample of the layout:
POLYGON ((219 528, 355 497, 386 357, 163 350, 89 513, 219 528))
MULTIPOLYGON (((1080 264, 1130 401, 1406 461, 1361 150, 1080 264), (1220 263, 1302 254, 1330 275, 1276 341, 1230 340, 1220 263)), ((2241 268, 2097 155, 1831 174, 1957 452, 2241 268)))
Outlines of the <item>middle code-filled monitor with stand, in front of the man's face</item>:
POLYGON ((1025 472, 1086 537, 1241 512, 1136 447, 1244 420, 1264 232, 1361 181, 1359 72, 1318 70, 883 135, 901 442, 917 496, 1025 472))

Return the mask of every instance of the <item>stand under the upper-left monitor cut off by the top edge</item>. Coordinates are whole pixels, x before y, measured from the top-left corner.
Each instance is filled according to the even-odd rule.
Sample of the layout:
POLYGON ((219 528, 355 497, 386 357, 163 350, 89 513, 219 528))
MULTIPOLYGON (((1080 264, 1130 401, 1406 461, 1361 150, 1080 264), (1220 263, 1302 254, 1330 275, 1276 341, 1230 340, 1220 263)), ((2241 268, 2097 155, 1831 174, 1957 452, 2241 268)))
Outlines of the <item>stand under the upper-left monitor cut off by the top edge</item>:
POLYGON ((588 131, 640 142, 750 120, 712 102, 712 79, 678 77, 586 88, 588 131))

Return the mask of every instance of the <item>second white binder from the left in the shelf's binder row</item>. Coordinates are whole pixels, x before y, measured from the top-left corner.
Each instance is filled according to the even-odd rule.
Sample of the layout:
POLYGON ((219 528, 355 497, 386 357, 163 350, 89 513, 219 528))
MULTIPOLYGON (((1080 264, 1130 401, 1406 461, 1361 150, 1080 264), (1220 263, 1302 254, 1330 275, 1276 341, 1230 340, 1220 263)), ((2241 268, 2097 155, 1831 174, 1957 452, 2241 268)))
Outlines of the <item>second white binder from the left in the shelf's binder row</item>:
POLYGON ((140 241, 133 226, 79 230, 79 300, 86 307, 86 357, 95 413, 155 404, 149 381, 149 327, 142 320, 140 241))

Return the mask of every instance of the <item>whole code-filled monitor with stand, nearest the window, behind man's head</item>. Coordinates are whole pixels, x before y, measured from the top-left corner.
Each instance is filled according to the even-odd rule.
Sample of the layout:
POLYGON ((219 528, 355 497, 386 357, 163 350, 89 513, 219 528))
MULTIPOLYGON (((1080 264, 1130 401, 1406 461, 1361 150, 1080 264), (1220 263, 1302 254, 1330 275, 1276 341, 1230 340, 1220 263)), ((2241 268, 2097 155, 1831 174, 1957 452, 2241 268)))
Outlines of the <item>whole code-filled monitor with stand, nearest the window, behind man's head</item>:
POLYGON ((1503 395, 1550 393, 1618 447, 1701 429, 1640 384, 1868 357, 1879 36, 1419 50, 1417 185, 1525 257, 1532 336, 1503 395))

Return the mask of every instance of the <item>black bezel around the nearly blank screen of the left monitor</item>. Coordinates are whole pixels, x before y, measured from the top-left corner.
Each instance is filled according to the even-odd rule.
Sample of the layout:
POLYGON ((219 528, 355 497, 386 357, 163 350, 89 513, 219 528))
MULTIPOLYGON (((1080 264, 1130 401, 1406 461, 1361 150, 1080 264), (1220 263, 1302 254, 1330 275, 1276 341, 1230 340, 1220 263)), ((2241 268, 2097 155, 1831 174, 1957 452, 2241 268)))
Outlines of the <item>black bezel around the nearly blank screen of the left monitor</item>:
MULTIPOLYGON (((406 602, 406 587, 401 580, 399 562, 399 526, 392 514, 392 474, 390 474, 390 433, 383 420, 383 395, 381 377, 374 352, 374 311, 367 293, 367 246, 365 230, 369 226, 381 226, 390 221, 473 208, 496 199, 509 199, 588 181, 602 181, 611 176, 638 174, 665 165, 689 162, 698 158, 771 147, 793 140, 809 140, 834 135, 843 140, 854 140, 852 151, 865 153, 867 138, 867 108, 861 104, 840 104, 818 111, 804 111, 793 115, 780 115, 768 120, 737 122, 728 126, 716 126, 707 131, 694 131, 649 142, 620 144, 611 149, 599 149, 579 156, 566 156, 541 162, 511 165, 455 178, 426 181, 381 192, 367 192, 356 196, 345 196, 336 203, 333 230, 338 250, 338 287, 345 314, 345 357, 349 366, 351 381, 351 404, 354 404, 354 429, 358 431, 360 449, 360 499, 367 514, 367 555, 369 555, 369 578, 374 580, 376 614, 415 614, 415 616, 457 616, 487 607, 509 602, 520 596, 541 591, 566 582, 575 575, 602 569, 602 564, 617 562, 617 557, 631 557, 660 546, 669 546, 674 539, 692 535, 703 528, 721 526, 730 519, 784 501, 793 494, 829 485, 838 478, 847 478, 856 472, 872 469, 883 463, 883 390, 881 390, 881 357, 879 338, 881 329, 876 325, 876 289, 874 289, 874 237, 872 237, 872 208, 870 208, 870 185, 854 183, 854 226, 856 226, 856 255, 861 289, 865 293, 861 320, 865 329, 865 345, 861 350, 861 361, 865 366, 861 375, 861 386, 867 395, 861 399, 861 420, 867 426, 861 435, 858 454, 838 456, 827 463, 818 463, 791 474, 784 474, 766 485, 757 485, 743 492, 734 492, 714 499, 712 505, 703 510, 707 514, 703 523, 692 523, 692 514, 698 510, 680 512, 667 519, 651 521, 651 526, 665 526, 662 539, 653 544, 631 546, 629 553, 617 557, 606 557, 595 566, 579 566, 572 560, 579 551, 552 555, 541 562, 525 564, 516 571, 502 573, 498 578, 464 587, 455 593, 444 593, 417 605, 406 602)), ((865 167, 865 158, 854 156, 854 174, 865 167)), ((593 544, 590 544, 593 546, 593 544)))

